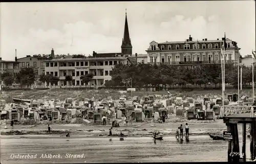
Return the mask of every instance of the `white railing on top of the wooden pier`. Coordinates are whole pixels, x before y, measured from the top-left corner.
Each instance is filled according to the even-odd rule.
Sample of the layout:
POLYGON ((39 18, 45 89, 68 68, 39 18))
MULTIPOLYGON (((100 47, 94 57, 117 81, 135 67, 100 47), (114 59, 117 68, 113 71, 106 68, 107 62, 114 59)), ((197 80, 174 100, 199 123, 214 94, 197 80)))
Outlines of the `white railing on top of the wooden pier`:
POLYGON ((253 118, 256 116, 254 114, 256 111, 253 111, 253 108, 256 108, 256 106, 252 106, 252 104, 253 102, 221 106, 220 118, 228 115, 243 113, 250 113, 250 117, 253 118))

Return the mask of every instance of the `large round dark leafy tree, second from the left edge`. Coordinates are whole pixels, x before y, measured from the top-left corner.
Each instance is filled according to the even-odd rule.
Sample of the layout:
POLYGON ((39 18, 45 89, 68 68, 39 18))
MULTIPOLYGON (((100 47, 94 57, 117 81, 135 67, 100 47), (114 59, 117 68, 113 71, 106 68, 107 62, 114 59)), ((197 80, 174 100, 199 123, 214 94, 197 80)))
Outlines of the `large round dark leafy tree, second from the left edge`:
POLYGON ((20 69, 20 72, 16 76, 16 83, 20 86, 30 87, 36 80, 36 73, 32 67, 25 67, 20 69))

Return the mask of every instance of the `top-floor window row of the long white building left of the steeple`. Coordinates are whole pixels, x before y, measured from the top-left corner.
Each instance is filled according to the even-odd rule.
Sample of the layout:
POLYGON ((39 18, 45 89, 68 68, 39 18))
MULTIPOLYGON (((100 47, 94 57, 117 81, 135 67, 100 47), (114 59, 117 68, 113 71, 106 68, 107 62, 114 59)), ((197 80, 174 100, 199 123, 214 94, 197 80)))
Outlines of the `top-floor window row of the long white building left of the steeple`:
MULTIPOLYGON (((116 65, 117 63, 121 63, 121 61, 93 61, 90 62, 90 66, 99 66, 99 65, 116 65)), ((47 62, 46 63, 47 67, 54 67, 58 66, 57 62, 47 62)), ((60 62, 59 66, 88 66, 88 61, 77 61, 77 62, 60 62)))

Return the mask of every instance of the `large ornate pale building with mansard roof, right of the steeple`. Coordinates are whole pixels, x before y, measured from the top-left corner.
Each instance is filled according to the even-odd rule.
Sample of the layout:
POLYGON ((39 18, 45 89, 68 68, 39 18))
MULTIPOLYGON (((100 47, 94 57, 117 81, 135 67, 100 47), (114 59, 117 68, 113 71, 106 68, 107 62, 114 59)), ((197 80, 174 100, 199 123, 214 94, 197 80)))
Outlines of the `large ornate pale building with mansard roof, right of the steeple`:
MULTIPOLYGON (((237 63, 240 57, 237 42, 226 39, 227 49, 225 51, 226 63, 237 63)), ((194 41, 189 35, 185 41, 172 41, 158 43, 152 41, 147 52, 148 63, 167 63, 173 65, 202 65, 220 64, 222 40, 202 40, 194 41)))

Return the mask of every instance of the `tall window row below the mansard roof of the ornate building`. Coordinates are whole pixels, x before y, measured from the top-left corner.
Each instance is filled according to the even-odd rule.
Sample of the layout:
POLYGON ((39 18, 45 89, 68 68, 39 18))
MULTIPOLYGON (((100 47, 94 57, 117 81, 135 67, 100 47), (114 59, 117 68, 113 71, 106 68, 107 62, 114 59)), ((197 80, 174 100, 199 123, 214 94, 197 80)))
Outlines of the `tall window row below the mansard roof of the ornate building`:
MULTIPOLYGON (((227 57, 227 54, 225 55, 225 60, 226 60, 226 57, 227 57)), ((157 56, 155 56, 155 57, 150 57, 150 62, 151 63, 153 63, 153 62, 157 62, 157 56)), ((202 56, 202 59, 203 59, 203 61, 206 61, 206 55, 203 55, 202 56)), ((213 60, 213 57, 212 57, 212 55, 208 55, 208 61, 210 61, 210 60, 213 60)), ((215 60, 216 61, 218 61, 219 60, 219 55, 218 54, 216 54, 215 55, 215 60)), ((232 54, 228 54, 228 60, 232 60, 232 54)), ((168 56, 167 57, 167 61, 168 62, 172 62, 172 56, 168 56)), ((180 56, 178 56, 178 55, 176 55, 175 56, 175 61, 180 61, 180 56)), ((191 56, 190 55, 184 55, 183 56, 183 61, 191 61, 191 56)), ((200 61, 200 55, 193 55, 192 56, 192 61, 200 61)), ((162 56, 161 57, 161 62, 165 62, 165 58, 164 58, 164 56, 162 56)))

